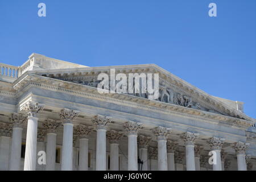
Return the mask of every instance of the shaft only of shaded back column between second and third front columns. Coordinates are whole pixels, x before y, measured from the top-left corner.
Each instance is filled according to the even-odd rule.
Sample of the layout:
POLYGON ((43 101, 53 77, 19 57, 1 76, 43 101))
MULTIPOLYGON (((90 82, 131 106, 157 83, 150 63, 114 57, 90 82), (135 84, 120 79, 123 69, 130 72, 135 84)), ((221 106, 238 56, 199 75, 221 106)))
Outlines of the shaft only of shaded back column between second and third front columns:
POLYGON ((88 138, 79 139, 79 171, 88 171, 88 138))

